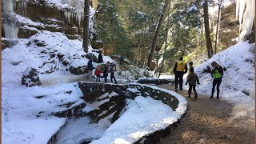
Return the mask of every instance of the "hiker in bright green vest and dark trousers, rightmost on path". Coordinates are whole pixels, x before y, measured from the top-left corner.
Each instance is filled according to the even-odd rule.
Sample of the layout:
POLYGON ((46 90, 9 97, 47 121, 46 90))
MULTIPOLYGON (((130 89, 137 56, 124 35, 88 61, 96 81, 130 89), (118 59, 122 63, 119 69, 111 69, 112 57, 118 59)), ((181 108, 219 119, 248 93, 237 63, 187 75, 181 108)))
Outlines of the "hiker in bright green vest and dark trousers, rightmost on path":
POLYGON ((213 88, 211 90, 211 96, 210 98, 214 98, 214 89, 217 85, 217 98, 219 98, 219 86, 222 83, 222 75, 223 75, 223 69, 222 66, 218 65, 217 62, 211 62, 211 66, 213 66, 213 70, 211 70, 212 78, 214 78, 213 81, 213 88))

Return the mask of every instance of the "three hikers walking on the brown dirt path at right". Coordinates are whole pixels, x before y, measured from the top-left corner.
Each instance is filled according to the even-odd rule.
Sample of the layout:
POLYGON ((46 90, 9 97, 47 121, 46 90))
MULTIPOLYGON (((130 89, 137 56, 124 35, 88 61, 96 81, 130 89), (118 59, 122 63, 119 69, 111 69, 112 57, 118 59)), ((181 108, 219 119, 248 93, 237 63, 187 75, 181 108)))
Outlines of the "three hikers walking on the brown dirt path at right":
MULTIPOLYGON (((219 98, 219 86, 222 83, 222 75, 223 75, 223 69, 222 66, 220 66, 217 62, 211 62, 211 66, 213 66, 213 70, 211 70, 211 75, 214 78, 213 81, 213 87, 211 91, 210 98, 214 98, 214 90, 215 86, 217 86, 217 98, 219 98)), ((189 91, 188 91, 188 97, 190 98, 192 89, 194 90, 194 98, 198 98, 197 90, 195 89, 195 86, 200 84, 198 75, 194 73, 194 67, 193 62, 189 63, 189 74, 187 76, 186 85, 189 84, 189 91)), ((178 82, 179 82, 179 90, 182 90, 182 84, 183 84, 183 74, 186 74, 188 68, 186 66, 186 62, 183 61, 183 58, 180 57, 178 62, 175 63, 174 66, 174 84, 175 84, 175 91, 178 91, 178 82)))

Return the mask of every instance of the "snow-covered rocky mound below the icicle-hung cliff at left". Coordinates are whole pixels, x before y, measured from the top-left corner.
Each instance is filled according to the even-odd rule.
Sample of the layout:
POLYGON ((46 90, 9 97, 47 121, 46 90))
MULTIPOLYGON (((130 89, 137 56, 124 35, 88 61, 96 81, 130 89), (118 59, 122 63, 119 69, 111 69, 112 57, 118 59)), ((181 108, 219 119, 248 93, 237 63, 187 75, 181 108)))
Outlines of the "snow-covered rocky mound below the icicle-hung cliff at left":
POLYGON ((40 79, 68 75, 71 65, 86 66, 82 42, 69 40, 62 33, 41 31, 29 39, 17 39, 15 46, 2 51, 2 83, 19 81, 27 67, 34 67, 40 79), (62 57, 62 58, 61 58, 62 57))

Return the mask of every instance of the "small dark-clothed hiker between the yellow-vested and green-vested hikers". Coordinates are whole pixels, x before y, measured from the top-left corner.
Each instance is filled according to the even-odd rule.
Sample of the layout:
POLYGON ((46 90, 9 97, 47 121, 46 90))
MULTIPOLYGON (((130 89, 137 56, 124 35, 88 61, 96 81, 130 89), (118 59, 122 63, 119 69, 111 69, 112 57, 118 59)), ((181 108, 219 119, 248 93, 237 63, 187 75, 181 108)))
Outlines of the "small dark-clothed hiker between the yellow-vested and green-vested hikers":
POLYGON ((198 93, 197 93, 197 90, 195 90, 195 86, 197 85, 197 82, 198 82, 198 85, 200 84, 199 82, 199 78, 198 78, 198 75, 194 73, 194 68, 191 67, 190 68, 190 75, 188 75, 187 79, 186 79, 186 85, 187 83, 189 83, 189 98, 190 98, 190 95, 191 95, 191 92, 192 92, 192 88, 194 90, 194 98, 198 98, 198 93))

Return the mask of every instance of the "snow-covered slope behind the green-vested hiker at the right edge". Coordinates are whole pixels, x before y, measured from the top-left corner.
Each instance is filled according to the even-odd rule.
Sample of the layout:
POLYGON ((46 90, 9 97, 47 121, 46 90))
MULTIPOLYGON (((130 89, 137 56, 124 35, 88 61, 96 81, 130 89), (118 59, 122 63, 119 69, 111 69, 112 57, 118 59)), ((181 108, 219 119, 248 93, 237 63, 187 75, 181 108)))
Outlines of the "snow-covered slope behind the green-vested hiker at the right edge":
MULTIPOLYGON (((227 50, 215 54, 213 58, 196 67, 195 72, 201 81, 201 85, 198 85, 198 92, 210 95, 213 78, 209 73, 203 73, 203 71, 207 66, 211 67, 210 63, 213 61, 226 68, 220 86, 220 98, 234 104, 234 118, 249 117, 254 120, 255 54, 251 53, 249 48, 248 42, 239 42, 227 50)), ((216 98, 216 90, 214 98, 216 98)))

